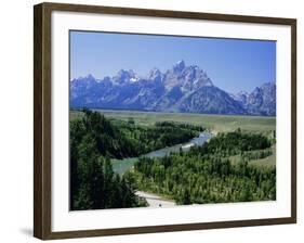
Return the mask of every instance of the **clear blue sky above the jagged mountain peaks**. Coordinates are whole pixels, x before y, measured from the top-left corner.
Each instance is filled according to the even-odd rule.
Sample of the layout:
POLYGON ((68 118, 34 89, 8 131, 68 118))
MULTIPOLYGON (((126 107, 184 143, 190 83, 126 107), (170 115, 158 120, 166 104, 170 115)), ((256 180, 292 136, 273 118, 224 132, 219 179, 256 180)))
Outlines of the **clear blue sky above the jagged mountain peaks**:
POLYGON ((71 79, 88 74, 102 79, 121 68, 145 76, 180 60, 198 65, 228 92, 276 81, 275 41, 70 31, 71 79))

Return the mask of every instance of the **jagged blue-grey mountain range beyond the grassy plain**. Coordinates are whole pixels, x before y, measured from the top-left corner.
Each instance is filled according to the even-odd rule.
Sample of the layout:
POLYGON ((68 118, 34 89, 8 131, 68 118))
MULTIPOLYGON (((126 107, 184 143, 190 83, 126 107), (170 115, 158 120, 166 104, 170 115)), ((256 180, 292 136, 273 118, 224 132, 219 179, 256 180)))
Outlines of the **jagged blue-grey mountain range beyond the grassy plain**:
POLYGON ((75 78, 70 107, 275 116, 276 84, 232 94, 213 85, 200 67, 180 61, 164 73, 154 68, 146 77, 120 69, 103 79, 75 78))

